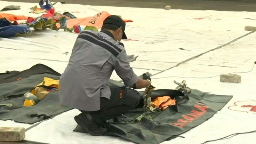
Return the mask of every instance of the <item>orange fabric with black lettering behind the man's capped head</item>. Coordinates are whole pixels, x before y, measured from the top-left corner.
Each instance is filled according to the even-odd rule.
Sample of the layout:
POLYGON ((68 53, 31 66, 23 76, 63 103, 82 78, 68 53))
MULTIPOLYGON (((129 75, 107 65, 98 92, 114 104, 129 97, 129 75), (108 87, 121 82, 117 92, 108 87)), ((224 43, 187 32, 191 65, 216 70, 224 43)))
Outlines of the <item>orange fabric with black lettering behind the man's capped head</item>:
MULTIPOLYGON (((97 29, 102 27, 104 19, 110 16, 106 11, 102 11, 95 16, 90 16, 86 18, 74 18, 67 20, 67 27, 72 28, 74 25, 83 25, 83 26, 95 26, 97 29)), ((125 22, 133 22, 131 20, 123 19, 125 22)), ((57 24, 57 27, 60 25, 57 24)))

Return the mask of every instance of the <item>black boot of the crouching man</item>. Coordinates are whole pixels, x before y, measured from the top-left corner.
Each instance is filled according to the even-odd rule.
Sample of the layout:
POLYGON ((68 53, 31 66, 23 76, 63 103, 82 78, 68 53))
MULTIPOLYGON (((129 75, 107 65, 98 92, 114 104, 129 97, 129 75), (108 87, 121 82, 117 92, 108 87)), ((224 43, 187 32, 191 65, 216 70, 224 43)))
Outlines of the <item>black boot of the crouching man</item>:
POLYGON ((84 113, 80 113, 74 119, 83 130, 92 136, 107 134, 107 129, 100 127, 93 120, 88 119, 84 113))

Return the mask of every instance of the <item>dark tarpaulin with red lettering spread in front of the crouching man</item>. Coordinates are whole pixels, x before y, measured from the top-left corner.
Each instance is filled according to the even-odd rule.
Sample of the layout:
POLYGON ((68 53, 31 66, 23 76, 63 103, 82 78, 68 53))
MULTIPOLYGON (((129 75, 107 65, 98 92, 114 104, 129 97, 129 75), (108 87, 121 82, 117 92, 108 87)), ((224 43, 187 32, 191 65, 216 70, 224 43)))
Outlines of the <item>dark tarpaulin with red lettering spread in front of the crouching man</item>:
MULTIPOLYGON (((169 90, 157 90, 162 95, 169 90)), ((154 92, 153 92, 154 93, 154 92)), ((170 96, 170 95, 169 95, 170 96)), ((171 96, 174 98, 173 96, 171 96)), ((146 114, 141 121, 132 121, 144 113, 142 108, 129 111, 118 123, 106 125, 108 135, 119 136, 139 144, 158 144, 196 127, 222 109, 232 96, 213 95, 192 89, 191 94, 176 96, 177 104, 165 111, 146 114)), ((83 132, 78 126, 74 131, 83 132)))

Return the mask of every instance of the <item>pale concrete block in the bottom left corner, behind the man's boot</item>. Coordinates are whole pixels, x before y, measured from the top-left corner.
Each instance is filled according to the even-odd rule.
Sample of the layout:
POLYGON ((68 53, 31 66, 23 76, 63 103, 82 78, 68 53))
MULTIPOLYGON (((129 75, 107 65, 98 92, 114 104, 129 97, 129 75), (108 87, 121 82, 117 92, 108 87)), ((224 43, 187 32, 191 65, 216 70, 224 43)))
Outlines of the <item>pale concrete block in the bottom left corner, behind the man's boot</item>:
POLYGON ((22 127, 0 127, 0 141, 20 142, 25 138, 25 128, 22 127))

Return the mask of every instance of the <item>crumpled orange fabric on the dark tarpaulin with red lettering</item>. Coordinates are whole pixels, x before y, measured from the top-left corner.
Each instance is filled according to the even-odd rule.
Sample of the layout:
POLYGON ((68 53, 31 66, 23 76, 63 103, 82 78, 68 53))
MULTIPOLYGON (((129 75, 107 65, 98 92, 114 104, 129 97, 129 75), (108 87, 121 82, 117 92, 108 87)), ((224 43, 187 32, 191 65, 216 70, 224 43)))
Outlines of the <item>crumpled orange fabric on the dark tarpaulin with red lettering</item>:
POLYGON ((151 106, 153 108, 159 107, 162 110, 165 110, 167 107, 170 105, 175 105, 175 99, 171 99, 169 96, 162 96, 162 97, 157 97, 151 102, 151 106))

